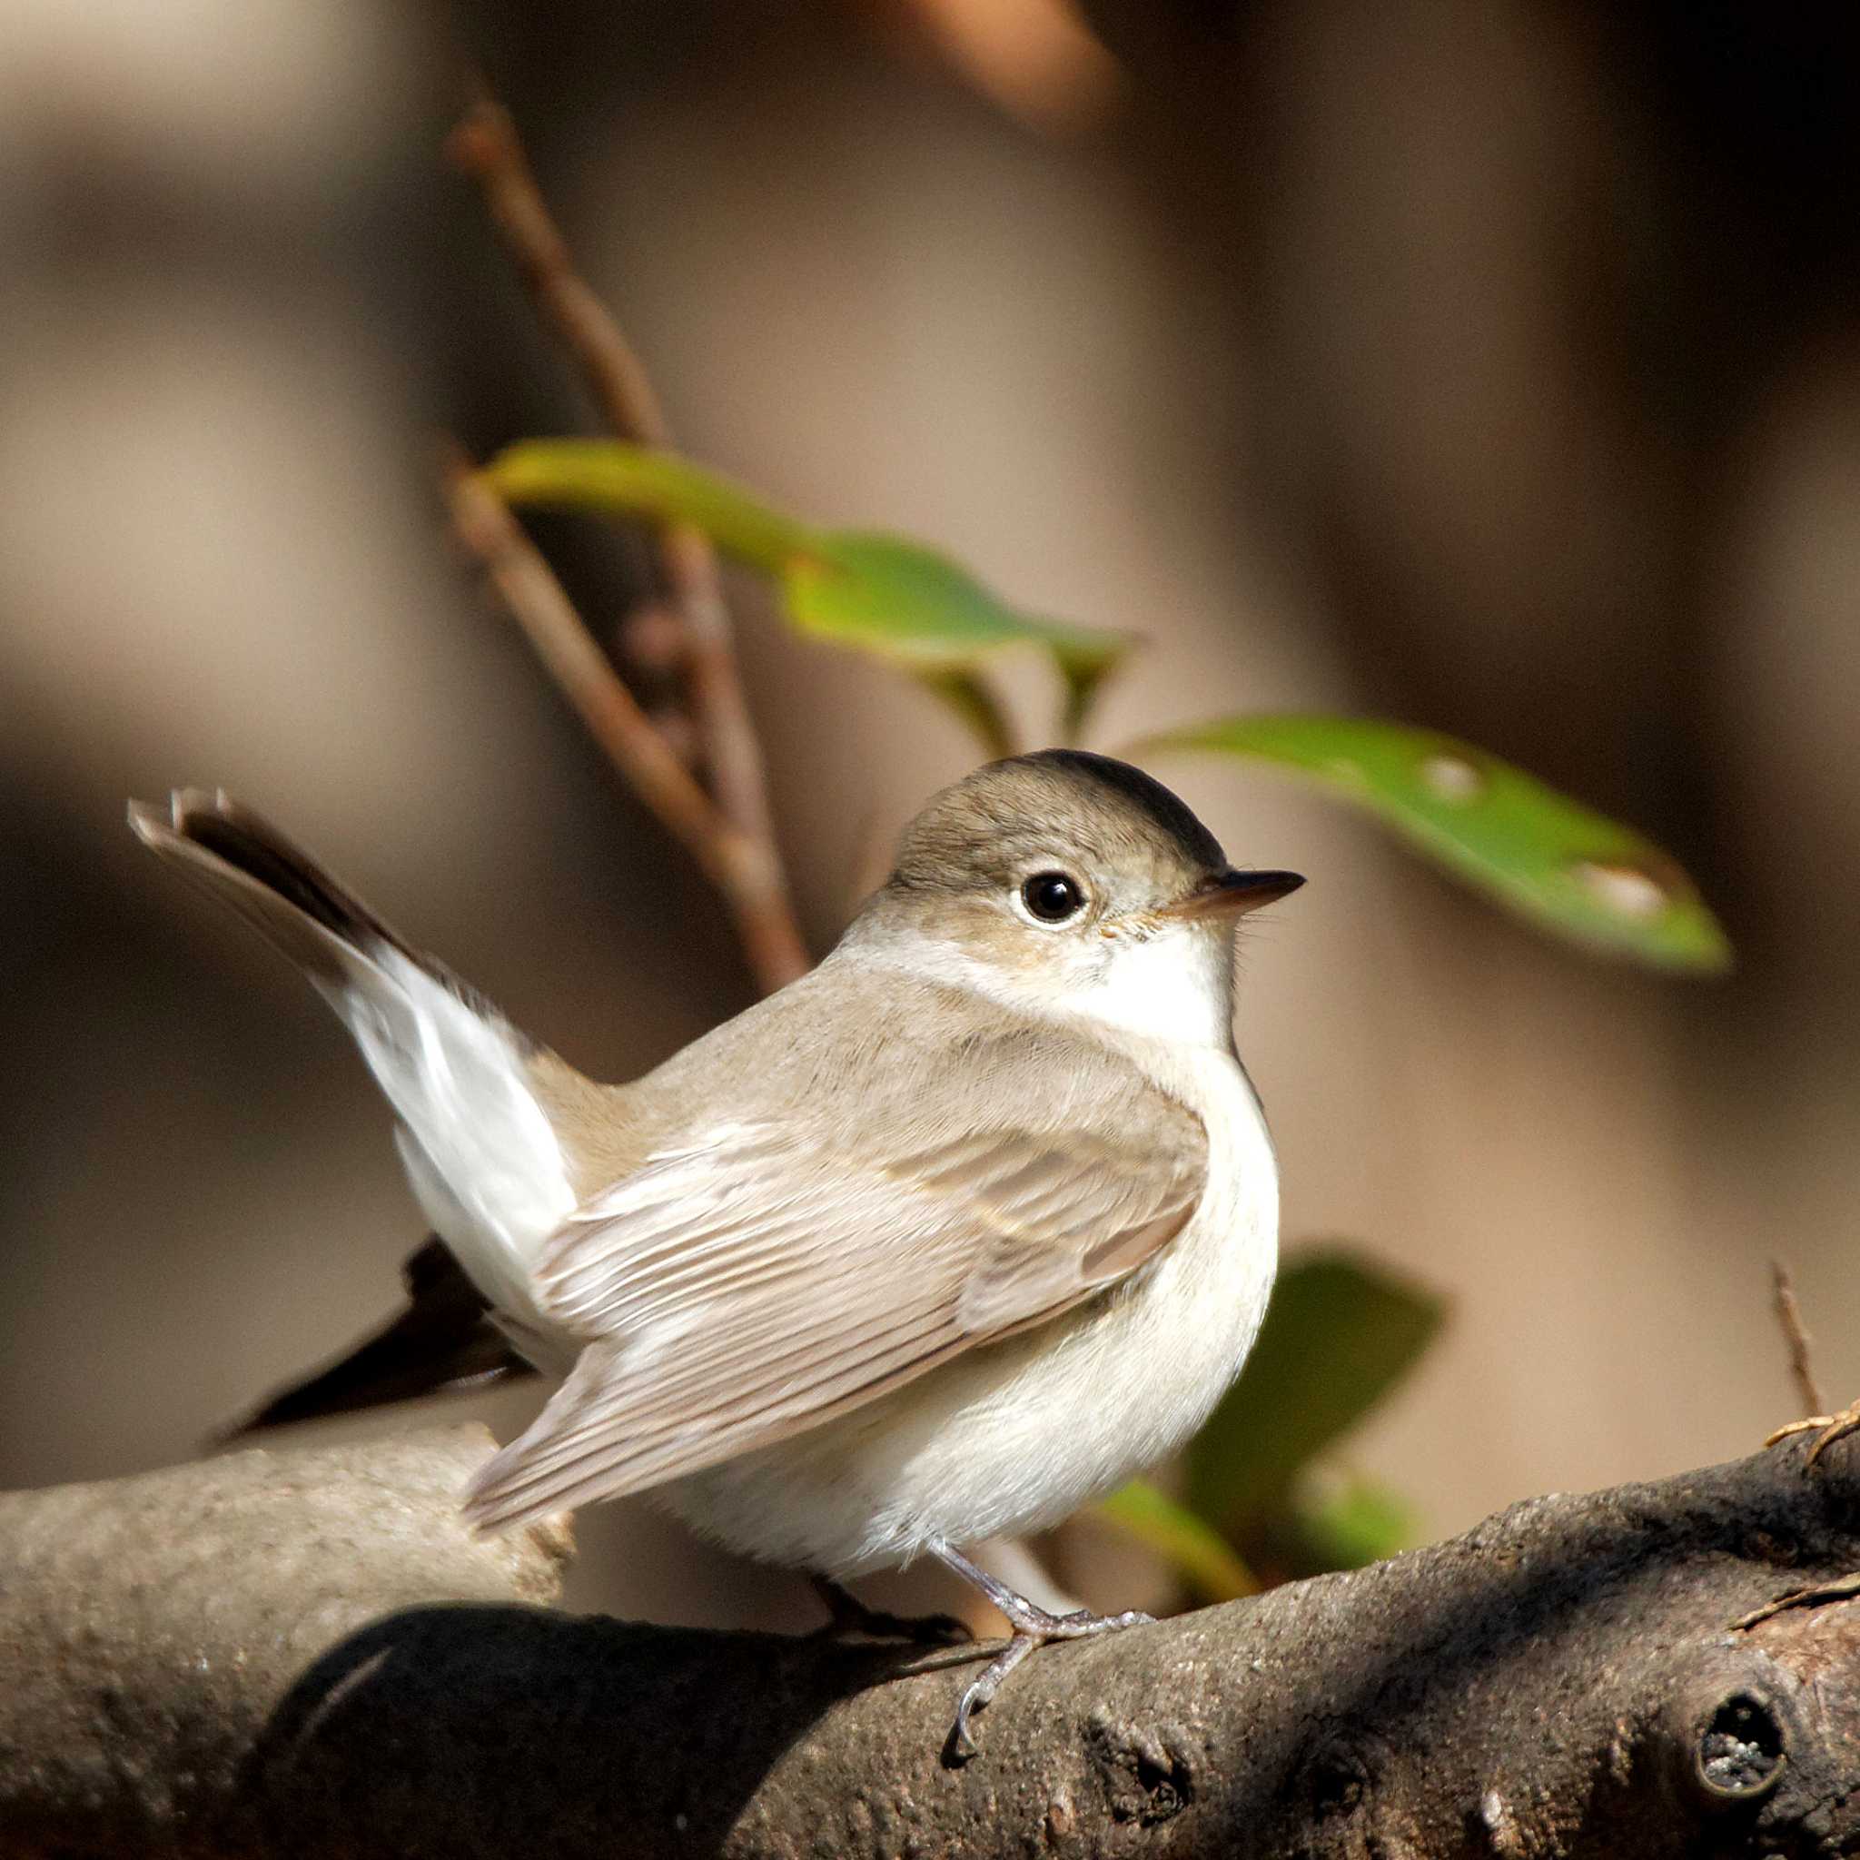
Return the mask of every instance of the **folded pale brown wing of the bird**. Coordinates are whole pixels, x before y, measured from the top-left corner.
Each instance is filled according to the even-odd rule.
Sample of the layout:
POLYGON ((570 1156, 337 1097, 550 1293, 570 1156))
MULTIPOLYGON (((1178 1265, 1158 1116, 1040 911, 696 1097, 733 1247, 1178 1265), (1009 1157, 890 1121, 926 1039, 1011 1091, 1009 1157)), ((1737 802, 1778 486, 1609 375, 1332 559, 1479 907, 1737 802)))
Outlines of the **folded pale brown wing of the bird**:
POLYGON ((856 1142, 764 1122, 662 1148, 549 1244, 543 1304, 593 1341, 467 1516, 510 1527, 692 1473, 1136 1270, 1194 1213, 1207 1135, 1118 1073, 1066 1092, 1058 1127, 1038 1105, 941 1131, 880 1105, 897 1129, 856 1142))

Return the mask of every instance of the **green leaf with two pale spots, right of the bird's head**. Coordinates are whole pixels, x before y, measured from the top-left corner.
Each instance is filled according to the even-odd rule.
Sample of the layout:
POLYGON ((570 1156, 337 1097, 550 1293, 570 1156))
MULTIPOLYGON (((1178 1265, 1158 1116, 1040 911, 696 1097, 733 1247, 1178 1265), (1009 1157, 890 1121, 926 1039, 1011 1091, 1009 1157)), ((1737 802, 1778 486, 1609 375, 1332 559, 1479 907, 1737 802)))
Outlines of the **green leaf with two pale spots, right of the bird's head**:
POLYGON ((1730 967, 1722 928, 1668 854, 1453 737, 1341 716, 1242 716, 1138 750, 1267 763, 1376 815, 1546 930, 1661 969, 1730 967))

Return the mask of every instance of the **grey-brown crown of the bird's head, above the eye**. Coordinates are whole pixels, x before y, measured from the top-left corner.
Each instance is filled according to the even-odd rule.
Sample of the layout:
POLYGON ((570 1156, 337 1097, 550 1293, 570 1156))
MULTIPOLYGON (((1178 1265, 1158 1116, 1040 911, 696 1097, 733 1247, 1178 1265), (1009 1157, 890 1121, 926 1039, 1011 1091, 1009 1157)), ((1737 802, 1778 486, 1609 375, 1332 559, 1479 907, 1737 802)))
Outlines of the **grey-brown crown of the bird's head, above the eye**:
POLYGON ((993 882, 1071 850, 1181 884, 1228 865, 1220 841, 1140 768, 1086 750, 1040 750, 990 763, 934 796, 904 833, 893 884, 993 882))

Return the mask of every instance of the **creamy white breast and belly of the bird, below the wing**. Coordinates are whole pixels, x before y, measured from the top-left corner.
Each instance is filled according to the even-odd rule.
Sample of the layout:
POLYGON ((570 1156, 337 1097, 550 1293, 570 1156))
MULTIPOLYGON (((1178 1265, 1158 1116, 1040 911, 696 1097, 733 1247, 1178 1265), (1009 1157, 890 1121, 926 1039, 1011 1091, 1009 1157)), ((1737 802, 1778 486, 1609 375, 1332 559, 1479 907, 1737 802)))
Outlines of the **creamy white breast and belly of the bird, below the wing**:
POLYGON ((1207 1120, 1202 1205, 1151 1267, 1055 1324, 660 1497, 735 1549, 856 1575, 910 1562, 930 1538, 1058 1523, 1174 1453, 1239 1373, 1278 1257, 1272 1149, 1252 1088, 1224 1064, 1244 1107, 1229 1097, 1207 1120))

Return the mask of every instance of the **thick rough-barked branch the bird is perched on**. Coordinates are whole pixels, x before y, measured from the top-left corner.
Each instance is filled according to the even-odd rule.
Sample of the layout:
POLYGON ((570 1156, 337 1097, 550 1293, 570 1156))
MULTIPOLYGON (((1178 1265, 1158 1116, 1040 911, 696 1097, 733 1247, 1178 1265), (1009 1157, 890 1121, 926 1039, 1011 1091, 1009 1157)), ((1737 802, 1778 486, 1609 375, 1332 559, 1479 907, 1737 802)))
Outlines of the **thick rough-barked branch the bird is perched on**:
POLYGON ((1860 1449, 1533 1499, 1373 1570, 1047 1648, 962 1769, 949 1655, 539 1607, 565 1536, 456 1520, 485 1451, 446 1428, 0 1499, 0 1849, 1860 1847, 1860 1583, 1840 1587, 1860 1449))

